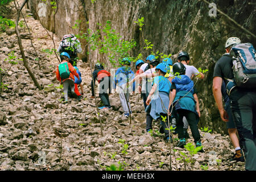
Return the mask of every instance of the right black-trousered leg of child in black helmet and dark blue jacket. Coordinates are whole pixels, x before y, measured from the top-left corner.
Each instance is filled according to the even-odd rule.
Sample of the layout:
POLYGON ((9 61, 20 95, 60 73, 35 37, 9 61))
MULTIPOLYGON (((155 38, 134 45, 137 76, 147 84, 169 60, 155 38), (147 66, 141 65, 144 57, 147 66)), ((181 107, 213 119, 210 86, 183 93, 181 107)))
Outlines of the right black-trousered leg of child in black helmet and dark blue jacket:
POLYGON ((200 142, 200 133, 198 130, 198 126, 197 126, 197 117, 196 114, 193 113, 192 111, 187 111, 185 114, 185 117, 187 118, 189 127, 191 129, 192 132, 192 136, 194 138, 194 142, 200 142))

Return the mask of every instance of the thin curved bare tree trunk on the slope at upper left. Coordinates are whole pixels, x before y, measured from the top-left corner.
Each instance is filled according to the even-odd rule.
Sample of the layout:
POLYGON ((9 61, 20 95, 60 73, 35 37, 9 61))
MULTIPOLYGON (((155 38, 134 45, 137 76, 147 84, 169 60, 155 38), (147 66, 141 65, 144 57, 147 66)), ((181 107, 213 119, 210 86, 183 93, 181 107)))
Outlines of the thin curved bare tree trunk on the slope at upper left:
POLYGON ((18 23, 19 23, 19 16, 20 16, 20 11, 23 9, 24 5, 27 3, 28 0, 25 0, 22 3, 22 6, 20 6, 20 9, 18 11, 18 17, 16 19, 16 26, 15 26, 15 31, 16 31, 16 35, 18 37, 18 44, 19 44, 19 49, 20 49, 20 53, 22 55, 22 60, 23 60, 23 64, 24 67, 27 69, 28 74, 30 75, 30 77, 32 78, 32 80, 34 81, 34 84, 36 85, 36 87, 39 90, 42 90, 40 84, 38 83, 38 81, 36 80, 34 74, 31 72, 30 68, 28 67, 28 63, 27 63, 27 59, 23 50, 23 46, 22 46, 22 40, 20 39, 20 33, 19 33, 19 28, 18 28, 18 23))

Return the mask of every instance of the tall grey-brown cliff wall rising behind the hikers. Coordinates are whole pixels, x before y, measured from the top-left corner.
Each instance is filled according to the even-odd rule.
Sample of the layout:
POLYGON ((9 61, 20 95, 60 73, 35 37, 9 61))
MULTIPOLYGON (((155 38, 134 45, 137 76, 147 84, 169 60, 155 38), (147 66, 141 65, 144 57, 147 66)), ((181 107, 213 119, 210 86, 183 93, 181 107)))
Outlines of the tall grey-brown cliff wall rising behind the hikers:
MULTIPOLYGON (((142 34, 134 21, 144 17, 144 38, 152 42, 152 51, 172 54, 176 61, 176 54, 180 50, 187 51, 191 57, 191 65, 196 68, 209 69, 204 80, 197 82, 199 91, 201 119, 199 127, 206 126, 220 133, 226 133, 225 123, 221 121, 216 104, 212 96, 212 75, 216 61, 225 53, 224 44, 230 36, 238 36, 242 42, 251 42, 256 45, 255 38, 246 34, 241 28, 230 22, 225 16, 217 13, 217 17, 210 17, 210 8, 202 1, 197 0, 91 0, 85 1, 57 1, 58 10, 53 21, 53 12, 47 1, 47 13, 41 17, 43 26, 55 32, 60 38, 73 32, 85 32, 87 28, 97 30, 97 23, 105 24, 111 20, 113 28, 125 40, 134 39, 137 47, 131 52, 137 56, 142 52, 143 59, 149 52, 143 49, 142 34), (76 20, 82 20, 80 28, 74 30, 76 20), (86 24, 86 22, 88 22, 86 24), (54 26, 55 24, 55 26, 54 26)), ((255 5, 251 1, 227 0, 211 1, 217 8, 236 20, 241 26, 256 34, 255 5)), ((39 11, 41 0, 30 0, 28 5, 32 12, 39 11)), ((43 2, 45 3, 45 2, 43 2)), ((88 47, 84 40, 82 47, 86 52, 88 47)), ((92 61, 106 60, 105 57, 92 53, 88 57, 92 61)), ((107 63, 108 64, 108 63, 107 63)))

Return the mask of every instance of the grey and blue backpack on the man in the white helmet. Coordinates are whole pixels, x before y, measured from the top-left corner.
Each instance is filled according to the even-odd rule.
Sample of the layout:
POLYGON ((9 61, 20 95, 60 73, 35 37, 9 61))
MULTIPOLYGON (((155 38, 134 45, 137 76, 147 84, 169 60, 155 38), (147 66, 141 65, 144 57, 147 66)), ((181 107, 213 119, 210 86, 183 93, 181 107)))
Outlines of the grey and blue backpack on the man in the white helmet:
POLYGON ((232 47, 229 55, 233 59, 233 85, 241 88, 256 88, 256 51, 253 45, 251 43, 238 44, 232 47))

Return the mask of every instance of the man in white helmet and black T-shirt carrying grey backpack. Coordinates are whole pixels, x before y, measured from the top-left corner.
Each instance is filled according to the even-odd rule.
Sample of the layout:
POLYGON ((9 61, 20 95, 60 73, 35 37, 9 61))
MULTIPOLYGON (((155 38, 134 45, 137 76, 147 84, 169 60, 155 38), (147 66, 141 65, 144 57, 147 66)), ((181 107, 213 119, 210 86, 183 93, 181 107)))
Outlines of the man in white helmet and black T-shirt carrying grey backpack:
POLYGON ((241 40, 239 38, 232 37, 226 40, 225 51, 226 53, 222 55, 222 57, 217 61, 214 67, 213 86, 212 86, 213 96, 218 106, 218 110, 220 112, 222 121, 228 122, 229 121, 228 114, 222 105, 221 85, 222 85, 222 80, 224 80, 226 85, 226 91, 229 95, 229 99, 231 102, 233 119, 237 126, 240 146, 245 154, 245 159, 246 159, 245 169, 249 171, 255 171, 256 170, 255 49, 251 44, 249 43, 241 44, 241 40), (234 58, 237 57, 237 59, 233 60, 231 56, 234 56, 234 58), (237 67, 238 65, 240 66, 237 67), (233 69, 233 66, 235 69, 233 69), (237 69, 237 68, 240 68, 240 69, 237 69), (242 70, 245 72, 243 72, 242 70), (254 75, 250 73, 248 74, 247 72, 248 70, 250 70, 250 73, 253 73, 254 75), (242 71, 242 73, 240 71, 242 71), (240 75, 243 75, 243 76, 240 77, 240 75), (241 78, 243 82, 240 82, 240 80, 237 78, 241 78), (254 78, 254 79, 251 79, 251 78, 254 78))

